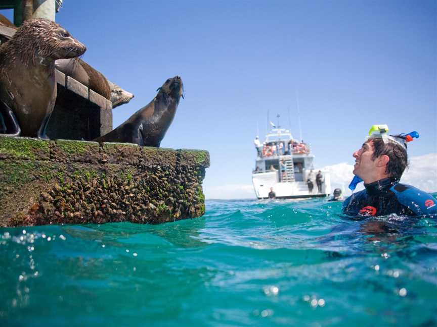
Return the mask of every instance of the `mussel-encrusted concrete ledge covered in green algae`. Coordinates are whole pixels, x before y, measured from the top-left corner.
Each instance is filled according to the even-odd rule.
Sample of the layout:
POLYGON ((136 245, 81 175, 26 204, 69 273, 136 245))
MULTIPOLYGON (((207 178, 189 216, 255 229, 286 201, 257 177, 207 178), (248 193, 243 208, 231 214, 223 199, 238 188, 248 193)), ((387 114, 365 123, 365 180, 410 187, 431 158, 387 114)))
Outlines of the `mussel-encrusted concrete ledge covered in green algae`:
POLYGON ((203 150, 0 136, 0 225, 198 217, 207 167, 203 150))

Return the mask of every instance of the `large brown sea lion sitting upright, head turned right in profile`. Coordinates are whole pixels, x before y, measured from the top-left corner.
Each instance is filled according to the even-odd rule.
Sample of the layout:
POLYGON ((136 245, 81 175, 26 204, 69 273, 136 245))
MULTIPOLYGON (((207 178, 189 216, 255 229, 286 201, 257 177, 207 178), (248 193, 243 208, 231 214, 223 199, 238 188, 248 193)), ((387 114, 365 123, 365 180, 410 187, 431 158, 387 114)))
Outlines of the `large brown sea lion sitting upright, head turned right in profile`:
POLYGON ((11 108, 21 136, 45 137, 57 95, 55 60, 85 50, 64 28, 43 18, 25 21, 0 46, 0 100, 11 108))

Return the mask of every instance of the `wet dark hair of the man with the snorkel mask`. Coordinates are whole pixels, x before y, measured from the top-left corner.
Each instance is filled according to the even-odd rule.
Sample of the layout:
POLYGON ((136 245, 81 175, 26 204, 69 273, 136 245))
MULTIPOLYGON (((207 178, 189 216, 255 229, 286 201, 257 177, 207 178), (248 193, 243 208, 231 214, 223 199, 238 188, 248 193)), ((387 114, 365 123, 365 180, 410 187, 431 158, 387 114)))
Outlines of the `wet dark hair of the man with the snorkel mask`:
MULTIPOLYGON (((402 138, 401 135, 392 136, 402 138)), ((390 160, 385 167, 385 173, 392 178, 400 180, 405 169, 408 167, 407 150, 395 142, 388 141, 388 143, 384 143, 382 138, 376 138, 372 140, 374 147, 372 160, 375 160, 381 155, 387 155, 390 160)))

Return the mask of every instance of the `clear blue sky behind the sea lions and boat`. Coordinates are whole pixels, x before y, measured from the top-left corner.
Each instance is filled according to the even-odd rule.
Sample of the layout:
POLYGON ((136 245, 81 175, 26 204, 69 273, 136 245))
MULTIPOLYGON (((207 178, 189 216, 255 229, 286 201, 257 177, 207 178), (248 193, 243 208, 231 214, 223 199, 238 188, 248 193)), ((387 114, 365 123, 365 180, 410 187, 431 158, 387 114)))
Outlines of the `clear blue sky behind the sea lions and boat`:
POLYGON ((435 1, 65 0, 56 20, 88 47, 83 60, 135 94, 114 127, 182 77, 161 146, 210 152, 206 194, 251 183, 268 112, 298 137, 296 92, 317 167, 352 163, 372 124, 417 130, 411 156, 437 152, 435 1))

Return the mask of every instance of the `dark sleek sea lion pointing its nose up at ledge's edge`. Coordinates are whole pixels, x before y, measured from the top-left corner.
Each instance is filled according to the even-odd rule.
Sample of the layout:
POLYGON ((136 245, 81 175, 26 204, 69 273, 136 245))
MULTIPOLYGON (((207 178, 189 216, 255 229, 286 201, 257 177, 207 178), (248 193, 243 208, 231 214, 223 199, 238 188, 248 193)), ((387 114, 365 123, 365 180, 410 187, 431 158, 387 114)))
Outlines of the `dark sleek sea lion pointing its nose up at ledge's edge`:
POLYGON ((105 134, 97 142, 136 143, 141 146, 159 147, 165 132, 173 121, 179 100, 183 96, 182 79, 169 78, 158 88, 149 104, 142 107, 127 121, 105 134))

